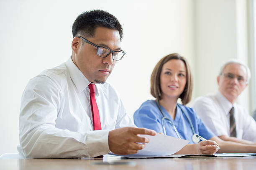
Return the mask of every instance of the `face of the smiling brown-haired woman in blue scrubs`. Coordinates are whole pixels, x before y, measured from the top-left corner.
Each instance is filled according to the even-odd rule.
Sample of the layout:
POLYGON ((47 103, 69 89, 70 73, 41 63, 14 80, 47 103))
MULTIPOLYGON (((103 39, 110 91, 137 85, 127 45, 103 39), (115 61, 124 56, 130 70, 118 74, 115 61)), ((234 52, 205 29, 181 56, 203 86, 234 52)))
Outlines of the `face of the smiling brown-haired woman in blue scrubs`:
POLYGON ((176 99, 184 91, 186 85, 186 66, 182 60, 171 59, 166 62, 160 74, 160 87, 162 99, 174 97, 176 99))

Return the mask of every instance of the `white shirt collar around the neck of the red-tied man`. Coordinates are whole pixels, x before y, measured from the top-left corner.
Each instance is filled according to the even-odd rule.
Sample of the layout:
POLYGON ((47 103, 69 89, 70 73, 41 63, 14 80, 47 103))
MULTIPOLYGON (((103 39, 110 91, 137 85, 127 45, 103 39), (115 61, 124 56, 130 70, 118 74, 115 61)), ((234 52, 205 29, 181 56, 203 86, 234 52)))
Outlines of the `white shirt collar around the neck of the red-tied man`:
MULTIPOLYGON (((78 67, 72 61, 71 57, 66 61, 65 64, 69 71, 70 78, 74 82, 74 85, 77 87, 78 93, 81 93, 91 82, 88 79, 86 79, 82 71, 78 69, 78 67)), ((97 90, 95 91, 97 93, 97 90)))

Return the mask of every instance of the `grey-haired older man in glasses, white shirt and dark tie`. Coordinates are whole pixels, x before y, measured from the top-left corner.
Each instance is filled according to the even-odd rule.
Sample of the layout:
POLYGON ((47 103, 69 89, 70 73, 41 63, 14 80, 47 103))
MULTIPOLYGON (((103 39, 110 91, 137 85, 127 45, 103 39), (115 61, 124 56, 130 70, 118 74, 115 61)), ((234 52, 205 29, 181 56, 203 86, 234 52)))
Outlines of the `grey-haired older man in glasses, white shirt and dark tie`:
POLYGON ((231 60, 220 69, 219 90, 199 97, 193 107, 212 132, 222 140, 256 144, 256 122, 235 101, 248 86, 251 73, 243 63, 231 60))

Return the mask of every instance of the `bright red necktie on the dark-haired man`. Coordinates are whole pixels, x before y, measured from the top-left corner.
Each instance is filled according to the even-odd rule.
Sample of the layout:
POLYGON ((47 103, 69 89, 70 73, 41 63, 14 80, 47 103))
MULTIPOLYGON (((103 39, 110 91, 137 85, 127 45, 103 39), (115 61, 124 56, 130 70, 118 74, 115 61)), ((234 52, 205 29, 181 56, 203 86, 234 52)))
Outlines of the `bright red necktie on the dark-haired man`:
POLYGON ((100 114, 95 99, 95 84, 89 84, 90 89, 90 103, 92 110, 93 130, 101 130, 100 114))

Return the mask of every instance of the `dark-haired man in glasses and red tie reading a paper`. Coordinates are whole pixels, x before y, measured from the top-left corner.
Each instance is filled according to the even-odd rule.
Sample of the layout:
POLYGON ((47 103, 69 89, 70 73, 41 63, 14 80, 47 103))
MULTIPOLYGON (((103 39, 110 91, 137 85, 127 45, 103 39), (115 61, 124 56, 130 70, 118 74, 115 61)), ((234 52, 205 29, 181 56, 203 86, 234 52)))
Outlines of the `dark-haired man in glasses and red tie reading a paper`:
POLYGON ((72 33, 68 61, 31 79, 23 92, 20 154, 64 158, 138 152, 149 140, 137 134, 156 132, 137 128, 105 83, 125 55, 122 26, 110 13, 91 10, 77 17, 72 33))

